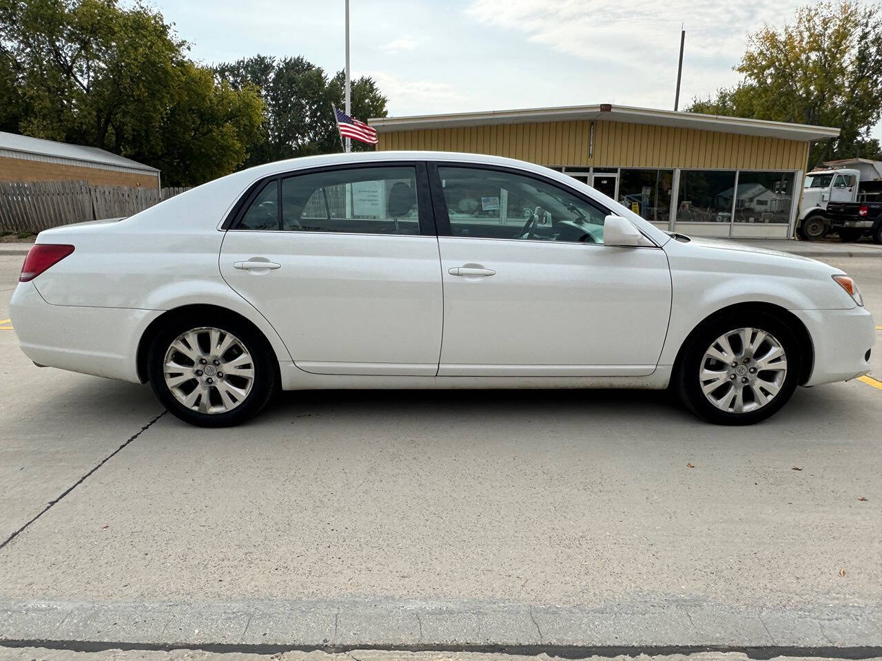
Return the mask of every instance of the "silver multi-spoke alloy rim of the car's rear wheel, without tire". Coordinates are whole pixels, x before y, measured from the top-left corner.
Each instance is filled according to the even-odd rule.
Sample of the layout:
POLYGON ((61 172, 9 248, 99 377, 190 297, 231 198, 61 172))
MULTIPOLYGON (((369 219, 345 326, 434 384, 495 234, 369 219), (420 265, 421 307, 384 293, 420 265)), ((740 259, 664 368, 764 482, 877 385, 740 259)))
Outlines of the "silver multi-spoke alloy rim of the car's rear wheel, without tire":
POLYGON ((242 340, 218 328, 194 328, 168 347, 163 375, 177 401, 200 413, 235 409, 254 385, 254 361, 242 340))

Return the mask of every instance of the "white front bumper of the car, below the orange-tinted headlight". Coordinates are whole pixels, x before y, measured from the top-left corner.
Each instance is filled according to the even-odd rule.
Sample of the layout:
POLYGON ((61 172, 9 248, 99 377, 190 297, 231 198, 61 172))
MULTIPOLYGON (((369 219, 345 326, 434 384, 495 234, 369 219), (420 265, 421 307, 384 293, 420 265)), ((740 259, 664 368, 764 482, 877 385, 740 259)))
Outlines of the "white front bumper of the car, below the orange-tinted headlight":
POLYGON ((804 385, 848 381, 870 371, 865 356, 876 340, 876 326, 866 308, 791 312, 805 324, 814 349, 814 365, 804 385))

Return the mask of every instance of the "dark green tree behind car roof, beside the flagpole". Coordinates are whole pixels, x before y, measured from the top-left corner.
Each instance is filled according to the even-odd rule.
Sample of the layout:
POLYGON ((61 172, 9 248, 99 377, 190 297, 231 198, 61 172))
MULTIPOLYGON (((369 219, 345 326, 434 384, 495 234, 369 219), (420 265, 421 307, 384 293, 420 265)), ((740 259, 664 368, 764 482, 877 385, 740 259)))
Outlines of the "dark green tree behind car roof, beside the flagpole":
MULTIPOLYGON (((263 97, 260 138, 250 145, 247 165, 341 151, 333 106, 343 107, 342 71, 328 78, 303 57, 261 55, 219 64, 214 71, 235 89, 255 85, 263 97)), ((351 94, 353 115, 362 120, 385 117, 386 98, 372 78, 352 81, 351 94)), ((371 148, 353 141, 354 151, 371 148)))

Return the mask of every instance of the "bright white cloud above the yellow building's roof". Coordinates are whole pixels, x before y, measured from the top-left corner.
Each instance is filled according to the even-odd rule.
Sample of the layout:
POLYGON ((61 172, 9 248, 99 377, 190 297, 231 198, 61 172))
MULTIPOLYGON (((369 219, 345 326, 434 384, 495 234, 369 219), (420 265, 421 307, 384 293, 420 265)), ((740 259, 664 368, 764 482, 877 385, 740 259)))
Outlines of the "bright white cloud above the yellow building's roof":
POLYGON ((584 63, 576 66, 594 70, 597 77, 614 74, 618 84, 605 85, 609 93, 667 107, 673 100, 681 22, 686 29, 681 101, 688 102, 692 95, 736 82, 732 67, 744 54, 747 34, 763 23, 781 25, 798 4, 800 0, 472 0, 466 13, 486 26, 522 33, 530 43, 578 58, 584 63))

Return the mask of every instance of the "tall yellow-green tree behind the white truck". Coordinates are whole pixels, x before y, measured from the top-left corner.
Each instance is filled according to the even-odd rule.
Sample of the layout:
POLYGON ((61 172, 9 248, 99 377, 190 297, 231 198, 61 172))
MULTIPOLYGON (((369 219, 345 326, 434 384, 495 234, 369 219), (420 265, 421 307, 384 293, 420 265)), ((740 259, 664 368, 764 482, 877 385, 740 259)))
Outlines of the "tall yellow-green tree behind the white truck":
POLYGON ((744 78, 690 112, 834 126, 811 149, 810 167, 833 159, 882 159, 872 127, 882 119, 882 5, 844 0, 796 11, 793 24, 753 33, 735 67, 744 78))

